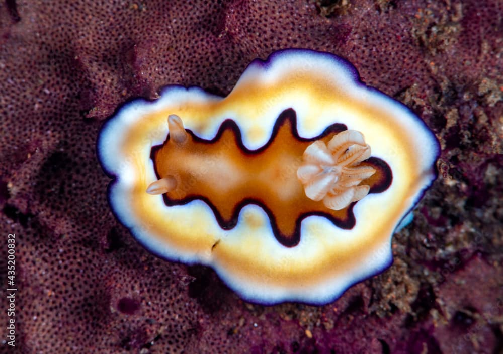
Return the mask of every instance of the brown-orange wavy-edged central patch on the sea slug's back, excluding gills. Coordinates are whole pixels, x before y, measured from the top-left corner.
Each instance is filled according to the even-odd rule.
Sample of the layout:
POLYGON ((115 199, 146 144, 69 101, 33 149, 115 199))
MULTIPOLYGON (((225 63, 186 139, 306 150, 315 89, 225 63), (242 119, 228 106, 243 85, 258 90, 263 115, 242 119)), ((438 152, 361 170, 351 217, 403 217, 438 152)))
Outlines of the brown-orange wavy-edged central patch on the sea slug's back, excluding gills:
MULTIPOLYGON (((211 141, 188 131, 187 141, 178 145, 168 136, 162 145, 152 149, 157 178, 171 175, 178 182, 174 191, 164 194, 166 205, 201 199, 212 208, 224 229, 236 225, 245 205, 259 205, 269 215, 277 240, 285 246, 299 242, 300 223, 309 215, 322 215, 341 228, 352 228, 356 222, 354 203, 337 211, 326 208, 321 201, 306 197, 296 173, 308 145, 316 140, 327 143, 346 127, 333 124, 311 139, 300 138, 295 127, 295 111, 285 110, 268 143, 253 151, 244 147, 241 133, 231 120, 222 124, 211 141)), ((369 193, 389 187, 391 170, 383 160, 371 157, 361 165, 376 169, 361 183, 370 186, 369 193)))

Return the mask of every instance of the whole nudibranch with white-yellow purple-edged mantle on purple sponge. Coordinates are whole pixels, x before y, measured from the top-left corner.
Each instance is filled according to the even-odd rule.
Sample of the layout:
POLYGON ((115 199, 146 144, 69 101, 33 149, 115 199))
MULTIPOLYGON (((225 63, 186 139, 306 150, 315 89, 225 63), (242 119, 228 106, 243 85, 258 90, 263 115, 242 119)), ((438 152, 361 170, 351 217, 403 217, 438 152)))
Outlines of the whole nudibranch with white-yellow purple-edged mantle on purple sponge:
POLYGON ((392 261, 439 144, 349 62, 251 62, 227 97, 170 85, 104 125, 117 218, 160 257, 211 266, 244 299, 323 304, 392 261))

